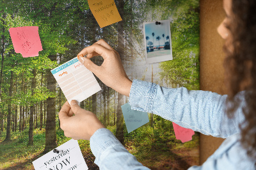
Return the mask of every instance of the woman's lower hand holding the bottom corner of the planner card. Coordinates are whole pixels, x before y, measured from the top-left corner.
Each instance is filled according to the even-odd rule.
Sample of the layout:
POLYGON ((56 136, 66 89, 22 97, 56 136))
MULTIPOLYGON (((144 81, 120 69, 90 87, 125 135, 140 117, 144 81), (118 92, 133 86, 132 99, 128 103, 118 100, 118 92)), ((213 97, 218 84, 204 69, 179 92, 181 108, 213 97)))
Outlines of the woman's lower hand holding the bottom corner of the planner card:
POLYGON ((93 112, 81 109, 76 100, 66 102, 59 112, 60 128, 72 139, 90 140, 90 137, 104 125, 93 112), (73 116, 74 114, 74 116, 73 116))

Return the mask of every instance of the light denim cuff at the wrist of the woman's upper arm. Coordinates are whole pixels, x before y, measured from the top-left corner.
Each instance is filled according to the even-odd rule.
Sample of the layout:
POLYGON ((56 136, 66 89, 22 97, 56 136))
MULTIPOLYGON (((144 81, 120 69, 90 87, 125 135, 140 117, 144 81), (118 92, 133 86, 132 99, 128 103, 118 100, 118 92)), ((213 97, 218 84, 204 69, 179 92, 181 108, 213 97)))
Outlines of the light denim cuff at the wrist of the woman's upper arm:
POLYGON ((129 105, 131 105, 131 109, 137 111, 152 112, 152 106, 155 96, 155 83, 134 79, 132 81, 129 96, 129 105))

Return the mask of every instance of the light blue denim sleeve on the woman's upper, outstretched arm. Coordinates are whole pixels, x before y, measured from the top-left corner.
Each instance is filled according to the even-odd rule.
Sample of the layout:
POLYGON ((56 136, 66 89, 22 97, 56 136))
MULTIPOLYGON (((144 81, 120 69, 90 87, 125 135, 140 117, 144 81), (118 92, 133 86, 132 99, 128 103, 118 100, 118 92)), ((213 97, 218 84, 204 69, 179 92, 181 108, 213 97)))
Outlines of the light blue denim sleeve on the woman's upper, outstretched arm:
POLYGON ((227 95, 186 88, 163 88, 152 82, 134 80, 129 104, 132 109, 151 112, 184 128, 226 138, 240 132, 243 111, 230 119, 225 114, 227 95))

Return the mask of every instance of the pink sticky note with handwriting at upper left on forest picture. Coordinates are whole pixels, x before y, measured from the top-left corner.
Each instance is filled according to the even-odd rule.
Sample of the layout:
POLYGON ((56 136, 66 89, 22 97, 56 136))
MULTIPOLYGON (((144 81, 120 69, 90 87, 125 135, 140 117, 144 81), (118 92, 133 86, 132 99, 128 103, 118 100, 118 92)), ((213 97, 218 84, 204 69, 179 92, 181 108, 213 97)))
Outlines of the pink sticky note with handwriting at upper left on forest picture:
POLYGON ((43 50, 37 26, 11 27, 9 29, 15 52, 24 58, 38 56, 43 50))

